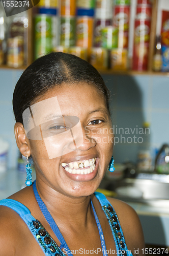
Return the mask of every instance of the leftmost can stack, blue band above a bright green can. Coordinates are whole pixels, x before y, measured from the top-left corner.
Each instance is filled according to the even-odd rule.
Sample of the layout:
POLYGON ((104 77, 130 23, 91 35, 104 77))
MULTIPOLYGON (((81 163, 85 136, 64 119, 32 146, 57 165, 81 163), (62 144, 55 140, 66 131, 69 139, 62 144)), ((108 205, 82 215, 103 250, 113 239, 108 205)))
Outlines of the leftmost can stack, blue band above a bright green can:
POLYGON ((35 59, 50 53, 57 45, 57 0, 39 3, 39 14, 35 15, 35 59))

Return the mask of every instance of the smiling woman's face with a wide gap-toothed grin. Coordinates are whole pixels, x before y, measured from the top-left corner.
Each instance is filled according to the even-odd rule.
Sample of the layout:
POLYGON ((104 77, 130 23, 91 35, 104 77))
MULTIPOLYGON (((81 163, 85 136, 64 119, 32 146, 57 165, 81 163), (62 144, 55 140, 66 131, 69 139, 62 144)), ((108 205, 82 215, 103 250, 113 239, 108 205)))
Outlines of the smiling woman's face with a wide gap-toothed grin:
POLYGON ((34 121, 38 120, 42 139, 27 139, 37 181, 69 197, 93 194, 110 162, 114 141, 103 95, 87 83, 62 84, 38 102, 34 121), (42 122, 46 114, 46 120, 53 119, 42 122))

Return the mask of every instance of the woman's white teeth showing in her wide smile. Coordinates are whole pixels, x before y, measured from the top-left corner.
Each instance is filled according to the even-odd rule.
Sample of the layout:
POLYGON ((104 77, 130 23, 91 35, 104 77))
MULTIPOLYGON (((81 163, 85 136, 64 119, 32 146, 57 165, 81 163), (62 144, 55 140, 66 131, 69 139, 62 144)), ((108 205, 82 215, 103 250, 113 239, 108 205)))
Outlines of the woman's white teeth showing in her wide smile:
POLYGON ((61 163, 66 172, 70 174, 90 174, 96 166, 96 157, 89 160, 80 160, 70 163, 61 163))

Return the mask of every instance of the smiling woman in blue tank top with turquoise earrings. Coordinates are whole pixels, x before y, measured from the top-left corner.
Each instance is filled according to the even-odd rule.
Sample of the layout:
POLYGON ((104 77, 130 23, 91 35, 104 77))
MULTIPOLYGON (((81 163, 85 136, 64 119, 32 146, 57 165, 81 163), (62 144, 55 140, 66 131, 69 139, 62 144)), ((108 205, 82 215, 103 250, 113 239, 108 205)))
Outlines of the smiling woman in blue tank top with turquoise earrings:
POLYGON ((74 55, 51 53, 23 72, 15 137, 36 181, 28 164, 29 186, 0 201, 1 256, 142 254, 135 211, 95 192, 112 157, 108 103, 100 74, 74 55))

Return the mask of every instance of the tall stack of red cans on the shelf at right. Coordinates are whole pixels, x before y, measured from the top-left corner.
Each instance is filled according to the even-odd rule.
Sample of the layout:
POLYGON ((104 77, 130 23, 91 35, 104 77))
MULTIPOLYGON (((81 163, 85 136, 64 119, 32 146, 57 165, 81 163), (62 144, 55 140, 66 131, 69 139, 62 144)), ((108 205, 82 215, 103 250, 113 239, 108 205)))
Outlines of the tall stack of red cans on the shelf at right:
POLYGON ((137 0, 134 24, 133 70, 148 69, 152 1, 137 0))

